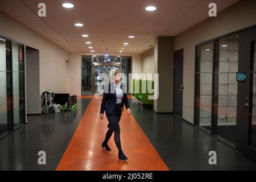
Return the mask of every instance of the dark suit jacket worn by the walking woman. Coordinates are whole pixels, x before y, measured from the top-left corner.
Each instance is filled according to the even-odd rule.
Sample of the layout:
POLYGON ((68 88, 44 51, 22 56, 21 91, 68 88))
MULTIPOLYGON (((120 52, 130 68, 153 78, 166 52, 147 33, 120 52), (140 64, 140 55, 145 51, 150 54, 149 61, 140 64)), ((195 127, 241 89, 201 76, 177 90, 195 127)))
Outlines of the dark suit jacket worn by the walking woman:
MULTIPOLYGON (((121 85, 121 89, 123 90, 123 99, 122 99, 122 110, 123 104, 125 104, 126 109, 130 108, 127 92, 123 89, 123 85, 121 85)), ((101 113, 103 114, 106 111, 107 114, 112 114, 115 109, 115 104, 117 102, 117 95, 115 94, 115 85, 114 83, 110 83, 105 86, 102 103, 101 103, 101 113), (112 92, 111 92, 112 91, 112 92)))

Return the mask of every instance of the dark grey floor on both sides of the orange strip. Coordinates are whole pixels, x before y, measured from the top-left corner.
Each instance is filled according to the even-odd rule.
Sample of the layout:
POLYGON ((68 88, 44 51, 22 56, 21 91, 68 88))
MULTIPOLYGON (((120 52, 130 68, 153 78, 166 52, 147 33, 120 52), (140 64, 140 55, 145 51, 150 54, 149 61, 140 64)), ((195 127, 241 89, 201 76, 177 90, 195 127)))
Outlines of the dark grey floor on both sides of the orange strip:
MULTIPOLYGON (((27 125, 0 140, 0 170, 55 170, 89 99, 78 99, 74 113, 29 115, 27 125), (38 151, 47 165, 39 166, 38 151)), ((172 114, 156 114, 129 100, 132 114, 171 170, 255 170, 256 163, 172 114), (210 166, 208 152, 217 152, 210 166)))

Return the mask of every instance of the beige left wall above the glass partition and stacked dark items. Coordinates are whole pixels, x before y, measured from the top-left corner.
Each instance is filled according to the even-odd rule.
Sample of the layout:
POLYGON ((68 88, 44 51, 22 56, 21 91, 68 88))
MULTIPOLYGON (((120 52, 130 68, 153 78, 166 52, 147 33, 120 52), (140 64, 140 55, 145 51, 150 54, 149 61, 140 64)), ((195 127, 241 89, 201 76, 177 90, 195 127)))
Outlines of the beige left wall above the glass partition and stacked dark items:
POLYGON ((2 11, 0 24, 0 36, 39 50, 40 93, 49 89, 55 93, 67 92, 65 60, 69 60, 69 53, 2 11))

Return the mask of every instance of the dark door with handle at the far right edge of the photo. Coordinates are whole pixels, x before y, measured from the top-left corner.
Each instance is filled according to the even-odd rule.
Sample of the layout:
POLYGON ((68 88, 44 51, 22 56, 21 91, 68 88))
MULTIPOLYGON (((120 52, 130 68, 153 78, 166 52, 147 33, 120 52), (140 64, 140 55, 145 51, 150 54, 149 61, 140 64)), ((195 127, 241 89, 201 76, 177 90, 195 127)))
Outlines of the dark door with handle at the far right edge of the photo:
POLYGON ((239 73, 245 79, 238 82, 237 150, 256 160, 256 28, 240 33, 239 73))

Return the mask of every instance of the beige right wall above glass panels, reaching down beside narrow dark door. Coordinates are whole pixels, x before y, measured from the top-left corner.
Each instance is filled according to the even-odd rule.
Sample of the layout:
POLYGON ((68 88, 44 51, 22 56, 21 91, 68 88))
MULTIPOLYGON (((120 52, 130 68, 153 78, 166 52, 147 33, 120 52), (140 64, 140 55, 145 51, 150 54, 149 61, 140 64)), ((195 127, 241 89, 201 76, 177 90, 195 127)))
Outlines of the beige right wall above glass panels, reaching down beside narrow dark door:
POLYGON ((175 36, 175 50, 184 48, 183 118, 193 123, 195 46, 198 43, 256 24, 256 1, 243 0, 175 36))

